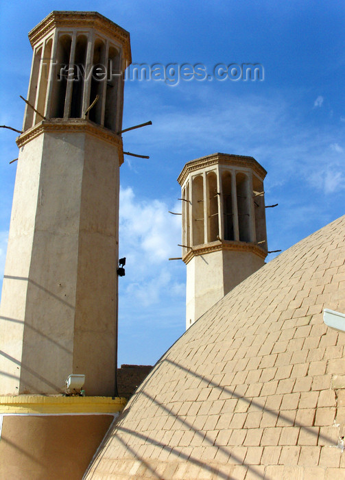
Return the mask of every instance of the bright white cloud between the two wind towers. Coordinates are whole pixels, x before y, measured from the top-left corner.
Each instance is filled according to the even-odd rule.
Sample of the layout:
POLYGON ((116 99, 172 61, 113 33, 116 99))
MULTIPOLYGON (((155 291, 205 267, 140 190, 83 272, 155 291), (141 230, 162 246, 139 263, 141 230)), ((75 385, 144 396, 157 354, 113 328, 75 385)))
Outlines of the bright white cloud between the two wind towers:
MULTIPOLYGON (((174 211, 180 208, 176 204, 174 211)), ((169 209, 161 200, 140 200, 131 188, 120 189, 119 250, 127 259, 120 306, 126 305, 126 316, 132 309, 133 319, 138 309, 174 299, 183 302, 185 269, 168 260, 180 256, 181 217, 169 209)))

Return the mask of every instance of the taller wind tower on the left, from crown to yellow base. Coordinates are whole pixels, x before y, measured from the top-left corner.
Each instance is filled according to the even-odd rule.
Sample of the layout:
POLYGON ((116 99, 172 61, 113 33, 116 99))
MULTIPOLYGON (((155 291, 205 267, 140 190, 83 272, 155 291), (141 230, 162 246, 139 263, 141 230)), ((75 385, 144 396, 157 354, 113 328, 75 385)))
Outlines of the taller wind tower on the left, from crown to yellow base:
POLYGON ((85 374, 112 396, 119 167, 130 35, 97 12, 52 12, 34 50, 5 263, 0 394, 58 394, 85 374), (32 108, 34 107, 34 108, 32 108))

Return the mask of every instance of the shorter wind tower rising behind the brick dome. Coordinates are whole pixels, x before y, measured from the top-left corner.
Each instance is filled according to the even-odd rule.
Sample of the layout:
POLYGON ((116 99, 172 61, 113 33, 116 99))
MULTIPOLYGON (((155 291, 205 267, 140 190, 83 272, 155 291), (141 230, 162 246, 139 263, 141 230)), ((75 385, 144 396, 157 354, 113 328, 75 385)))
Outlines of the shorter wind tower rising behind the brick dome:
POLYGON ((186 328, 265 264, 266 173, 250 156, 219 153, 182 169, 186 328))

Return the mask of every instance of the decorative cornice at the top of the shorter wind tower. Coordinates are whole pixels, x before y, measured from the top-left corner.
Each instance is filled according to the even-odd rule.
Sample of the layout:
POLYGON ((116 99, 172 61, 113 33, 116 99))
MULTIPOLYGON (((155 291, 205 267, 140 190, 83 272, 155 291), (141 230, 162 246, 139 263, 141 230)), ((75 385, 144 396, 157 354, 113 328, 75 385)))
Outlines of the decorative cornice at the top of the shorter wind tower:
POLYGON ((184 184, 189 173, 195 170, 204 169, 210 167, 211 165, 231 165, 233 167, 248 167, 255 171, 257 175, 263 180, 267 174, 267 171, 253 158, 252 156, 244 155, 232 155, 232 154, 212 154, 203 156, 201 158, 195 158, 187 162, 185 167, 183 167, 180 175, 178 176, 178 183, 181 185, 184 184))

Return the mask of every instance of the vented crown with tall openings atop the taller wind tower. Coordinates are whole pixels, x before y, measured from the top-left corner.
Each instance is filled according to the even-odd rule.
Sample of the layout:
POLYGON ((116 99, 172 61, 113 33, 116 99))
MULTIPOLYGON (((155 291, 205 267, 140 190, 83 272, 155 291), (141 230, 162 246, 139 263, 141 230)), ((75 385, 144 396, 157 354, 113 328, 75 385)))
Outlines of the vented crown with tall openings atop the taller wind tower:
POLYGON ((97 12, 54 11, 29 32, 29 40, 34 56, 28 101, 39 114, 27 106, 23 130, 43 117, 87 118, 121 130, 123 71, 131 62, 126 30, 97 12))

